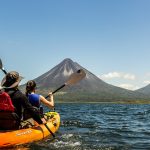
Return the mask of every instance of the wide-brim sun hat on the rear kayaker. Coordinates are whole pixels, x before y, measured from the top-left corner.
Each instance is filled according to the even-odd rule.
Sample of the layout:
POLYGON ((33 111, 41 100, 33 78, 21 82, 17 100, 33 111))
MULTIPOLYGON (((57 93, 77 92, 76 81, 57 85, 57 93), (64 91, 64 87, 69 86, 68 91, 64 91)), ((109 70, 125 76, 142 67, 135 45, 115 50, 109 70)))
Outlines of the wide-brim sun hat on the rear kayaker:
POLYGON ((16 71, 10 71, 6 74, 1 82, 2 87, 14 88, 18 86, 20 81, 23 79, 22 76, 19 75, 16 71))

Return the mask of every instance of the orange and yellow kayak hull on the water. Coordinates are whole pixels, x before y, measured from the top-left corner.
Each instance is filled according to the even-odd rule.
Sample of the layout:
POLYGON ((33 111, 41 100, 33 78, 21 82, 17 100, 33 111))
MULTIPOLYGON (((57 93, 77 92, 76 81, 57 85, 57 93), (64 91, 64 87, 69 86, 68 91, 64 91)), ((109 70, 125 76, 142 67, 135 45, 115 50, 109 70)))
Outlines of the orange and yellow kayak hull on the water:
MULTIPOLYGON (((60 126, 59 114, 57 112, 48 112, 45 116, 47 118, 48 128, 52 131, 52 133, 55 133, 60 126)), ((0 131, 0 148, 39 141, 47 136, 52 136, 52 134, 43 124, 27 129, 0 131)))

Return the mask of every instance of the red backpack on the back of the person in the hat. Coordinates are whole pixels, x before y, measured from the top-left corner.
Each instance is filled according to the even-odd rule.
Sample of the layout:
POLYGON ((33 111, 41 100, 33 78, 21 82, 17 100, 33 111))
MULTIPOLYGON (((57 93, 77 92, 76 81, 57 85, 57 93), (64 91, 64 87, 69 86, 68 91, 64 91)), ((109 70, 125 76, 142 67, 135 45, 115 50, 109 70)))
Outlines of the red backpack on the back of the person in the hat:
POLYGON ((4 91, 0 91, 0 111, 15 111, 9 94, 4 91))

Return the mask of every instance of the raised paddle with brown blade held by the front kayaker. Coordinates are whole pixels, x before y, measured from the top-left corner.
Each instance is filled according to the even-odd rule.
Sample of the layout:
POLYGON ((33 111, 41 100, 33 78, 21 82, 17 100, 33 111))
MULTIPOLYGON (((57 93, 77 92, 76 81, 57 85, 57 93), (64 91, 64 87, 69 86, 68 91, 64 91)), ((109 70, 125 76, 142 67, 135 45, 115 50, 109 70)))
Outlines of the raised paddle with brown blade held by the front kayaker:
MULTIPOLYGON (((77 82, 82 80, 85 76, 86 76, 86 73, 84 72, 83 69, 77 70, 77 72, 72 73, 70 75, 69 79, 62 86, 60 86, 55 91, 53 91, 52 94, 56 93, 57 91, 59 91, 60 89, 62 89, 65 86, 76 84, 77 82)), ((45 98, 48 98, 48 97, 49 97, 49 95, 46 96, 45 98)))

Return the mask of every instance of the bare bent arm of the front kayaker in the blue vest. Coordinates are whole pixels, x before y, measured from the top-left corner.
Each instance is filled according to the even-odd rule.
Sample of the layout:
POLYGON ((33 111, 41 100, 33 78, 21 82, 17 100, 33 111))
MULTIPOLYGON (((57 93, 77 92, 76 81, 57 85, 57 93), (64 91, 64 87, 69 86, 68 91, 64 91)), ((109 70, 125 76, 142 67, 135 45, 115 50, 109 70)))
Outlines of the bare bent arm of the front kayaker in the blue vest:
POLYGON ((54 97, 52 93, 49 93, 49 101, 44 96, 40 95, 40 101, 49 108, 54 108, 54 97))

